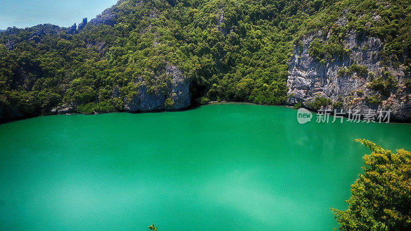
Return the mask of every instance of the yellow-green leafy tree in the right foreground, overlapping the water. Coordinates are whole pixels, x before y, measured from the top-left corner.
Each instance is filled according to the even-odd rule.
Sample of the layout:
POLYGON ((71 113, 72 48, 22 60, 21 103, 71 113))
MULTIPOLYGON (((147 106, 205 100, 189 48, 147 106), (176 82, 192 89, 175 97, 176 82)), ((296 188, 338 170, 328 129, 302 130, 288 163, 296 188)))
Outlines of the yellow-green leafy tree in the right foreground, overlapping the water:
POLYGON ((363 159, 364 174, 351 185, 345 211, 332 208, 340 230, 411 229, 411 153, 392 153, 367 140, 371 155, 363 159))

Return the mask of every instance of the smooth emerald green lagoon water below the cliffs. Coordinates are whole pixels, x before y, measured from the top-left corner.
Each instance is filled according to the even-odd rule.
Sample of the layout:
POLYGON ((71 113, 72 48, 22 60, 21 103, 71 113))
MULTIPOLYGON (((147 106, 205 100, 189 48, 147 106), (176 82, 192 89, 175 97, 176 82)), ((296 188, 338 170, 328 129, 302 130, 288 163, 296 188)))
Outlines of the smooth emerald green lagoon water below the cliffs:
POLYGON ((296 110, 52 115, 0 125, 2 230, 332 230, 369 150, 409 124, 298 124, 296 110))

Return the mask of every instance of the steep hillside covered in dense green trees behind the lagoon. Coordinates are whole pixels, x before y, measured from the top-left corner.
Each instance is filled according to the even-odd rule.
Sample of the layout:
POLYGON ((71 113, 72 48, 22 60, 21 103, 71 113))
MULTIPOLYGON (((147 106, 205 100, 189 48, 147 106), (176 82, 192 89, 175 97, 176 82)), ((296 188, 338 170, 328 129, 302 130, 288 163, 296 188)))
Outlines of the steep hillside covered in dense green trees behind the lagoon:
POLYGON ((280 105, 293 44, 320 29, 335 39, 315 55, 340 52, 354 28, 381 37, 387 59, 409 70, 410 12, 409 1, 121 0, 78 30, 8 28, 0 32, 0 118, 57 106, 122 111, 142 84, 147 94, 162 92, 167 107, 171 65, 190 81, 192 105, 280 105), (343 13, 349 23, 336 29, 343 13))

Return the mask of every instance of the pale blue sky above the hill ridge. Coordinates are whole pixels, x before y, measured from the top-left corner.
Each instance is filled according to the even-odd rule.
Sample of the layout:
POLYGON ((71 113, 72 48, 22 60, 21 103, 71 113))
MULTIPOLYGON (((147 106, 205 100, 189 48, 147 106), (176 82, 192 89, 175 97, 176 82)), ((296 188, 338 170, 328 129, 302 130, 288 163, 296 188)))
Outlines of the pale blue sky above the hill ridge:
POLYGON ((0 29, 51 23, 68 27, 94 18, 117 0, 0 0, 0 29))

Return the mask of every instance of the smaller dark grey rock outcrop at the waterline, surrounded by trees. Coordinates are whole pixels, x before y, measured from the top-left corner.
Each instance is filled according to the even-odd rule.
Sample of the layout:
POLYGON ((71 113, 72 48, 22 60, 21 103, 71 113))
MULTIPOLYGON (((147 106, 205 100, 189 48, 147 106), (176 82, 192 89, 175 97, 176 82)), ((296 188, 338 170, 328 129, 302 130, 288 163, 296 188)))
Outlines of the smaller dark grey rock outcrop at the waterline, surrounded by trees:
POLYGON ((156 89, 154 92, 148 90, 146 83, 140 79, 137 95, 132 99, 124 99, 124 110, 129 112, 178 110, 190 106, 191 95, 189 91, 190 82, 184 79, 182 72, 173 65, 165 67, 166 87, 156 89))

